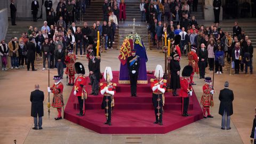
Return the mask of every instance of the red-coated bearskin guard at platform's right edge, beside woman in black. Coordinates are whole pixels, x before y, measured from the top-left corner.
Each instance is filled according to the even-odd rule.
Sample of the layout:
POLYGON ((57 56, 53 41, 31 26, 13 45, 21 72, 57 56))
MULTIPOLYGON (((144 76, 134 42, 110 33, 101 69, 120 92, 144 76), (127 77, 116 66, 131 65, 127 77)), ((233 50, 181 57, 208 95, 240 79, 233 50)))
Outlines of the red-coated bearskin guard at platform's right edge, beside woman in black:
POLYGON ((192 86, 190 84, 189 76, 193 72, 191 66, 185 66, 182 70, 182 77, 180 77, 180 97, 182 98, 182 116, 188 115, 189 97, 192 95, 192 86))

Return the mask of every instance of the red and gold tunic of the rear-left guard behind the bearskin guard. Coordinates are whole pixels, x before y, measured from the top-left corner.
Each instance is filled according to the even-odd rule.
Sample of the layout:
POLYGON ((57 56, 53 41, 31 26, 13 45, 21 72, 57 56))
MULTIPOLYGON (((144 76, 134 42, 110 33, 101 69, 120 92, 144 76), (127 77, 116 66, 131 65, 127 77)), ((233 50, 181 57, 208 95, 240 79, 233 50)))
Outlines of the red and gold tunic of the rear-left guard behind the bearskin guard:
POLYGON ((75 62, 76 62, 76 55, 75 54, 68 54, 66 56, 66 59, 65 59, 65 63, 67 65, 67 68, 66 68, 66 71, 65 71, 65 74, 67 75, 75 75, 76 74, 76 71, 75 71, 75 62))

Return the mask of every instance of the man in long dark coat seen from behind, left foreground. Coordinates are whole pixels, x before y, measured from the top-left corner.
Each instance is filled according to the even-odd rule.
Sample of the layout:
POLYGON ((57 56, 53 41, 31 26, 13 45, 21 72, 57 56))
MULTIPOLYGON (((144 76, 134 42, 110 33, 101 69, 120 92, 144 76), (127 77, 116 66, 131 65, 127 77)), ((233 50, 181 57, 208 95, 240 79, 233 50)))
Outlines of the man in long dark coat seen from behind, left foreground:
POLYGON ((35 91, 30 94, 31 116, 34 117, 33 130, 42 130, 42 117, 44 116, 44 92, 39 90, 39 85, 35 85, 35 91), (38 116, 38 121, 37 121, 38 116))

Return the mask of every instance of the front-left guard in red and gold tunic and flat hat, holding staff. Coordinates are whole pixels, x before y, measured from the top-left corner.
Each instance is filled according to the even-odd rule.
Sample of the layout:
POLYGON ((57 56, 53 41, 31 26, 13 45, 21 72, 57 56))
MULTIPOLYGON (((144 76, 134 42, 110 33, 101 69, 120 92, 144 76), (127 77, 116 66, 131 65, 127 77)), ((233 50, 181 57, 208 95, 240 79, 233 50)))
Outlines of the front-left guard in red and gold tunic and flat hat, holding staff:
POLYGON ((60 76, 54 76, 54 84, 52 87, 47 87, 48 92, 53 93, 53 99, 52 99, 52 107, 57 108, 58 110, 58 116, 55 117, 55 120, 62 119, 61 116, 61 108, 64 106, 63 103, 63 84, 61 83, 60 76))

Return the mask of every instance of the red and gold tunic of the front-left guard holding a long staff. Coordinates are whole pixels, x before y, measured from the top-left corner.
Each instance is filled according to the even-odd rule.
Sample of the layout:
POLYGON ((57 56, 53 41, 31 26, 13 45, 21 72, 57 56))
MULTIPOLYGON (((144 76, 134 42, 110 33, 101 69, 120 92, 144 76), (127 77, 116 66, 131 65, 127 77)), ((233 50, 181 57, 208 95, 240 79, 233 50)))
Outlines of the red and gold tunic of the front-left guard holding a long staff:
POLYGON ((58 84, 55 85, 54 83, 53 86, 50 87, 50 90, 53 93, 52 107, 61 108, 62 106, 64 106, 63 95, 62 95, 63 84, 59 82, 58 84))

